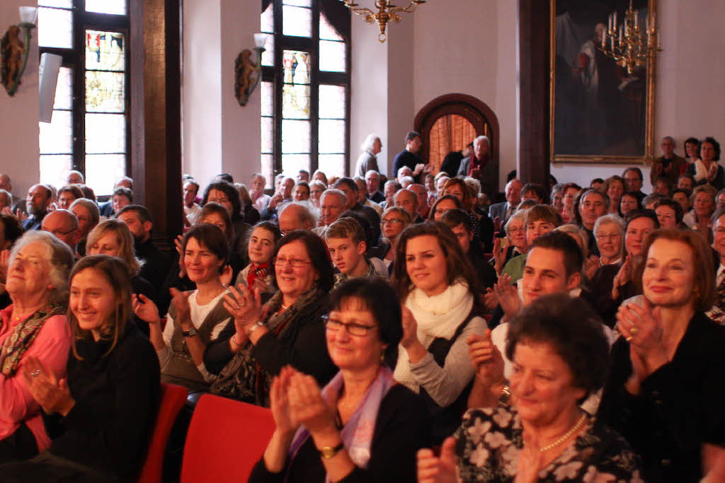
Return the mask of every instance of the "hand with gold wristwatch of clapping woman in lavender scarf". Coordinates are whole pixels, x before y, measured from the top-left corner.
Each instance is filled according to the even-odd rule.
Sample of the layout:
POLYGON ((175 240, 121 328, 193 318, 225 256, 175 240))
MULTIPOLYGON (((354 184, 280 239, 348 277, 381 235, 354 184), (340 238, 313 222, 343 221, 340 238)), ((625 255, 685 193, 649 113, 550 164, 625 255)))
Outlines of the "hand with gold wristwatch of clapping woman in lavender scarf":
POLYGON ((338 434, 335 425, 336 401, 328 405, 314 377, 291 368, 289 371, 287 395, 291 421, 304 425, 312 437, 338 434))

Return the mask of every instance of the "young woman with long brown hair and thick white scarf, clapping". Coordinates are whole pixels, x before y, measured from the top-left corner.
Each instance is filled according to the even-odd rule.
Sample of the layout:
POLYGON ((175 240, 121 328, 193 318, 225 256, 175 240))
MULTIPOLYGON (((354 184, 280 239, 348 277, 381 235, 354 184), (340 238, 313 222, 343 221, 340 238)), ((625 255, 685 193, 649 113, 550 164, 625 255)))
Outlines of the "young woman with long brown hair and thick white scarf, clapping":
POLYGON ((403 337, 393 377, 426 400, 439 444, 460 423, 471 390, 467 341, 486 329, 479 316, 481 287, 455 235, 441 222, 402 232, 394 280, 403 303, 403 337))

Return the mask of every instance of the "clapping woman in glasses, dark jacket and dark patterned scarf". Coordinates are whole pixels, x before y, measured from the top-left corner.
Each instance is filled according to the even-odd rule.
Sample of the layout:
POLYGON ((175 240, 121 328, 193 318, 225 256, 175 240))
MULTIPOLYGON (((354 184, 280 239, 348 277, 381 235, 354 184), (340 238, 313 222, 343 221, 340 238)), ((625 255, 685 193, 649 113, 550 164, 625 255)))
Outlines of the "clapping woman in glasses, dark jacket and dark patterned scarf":
POLYGON ((272 378, 284 366, 310 374, 323 385, 335 367, 325 346, 328 293, 334 283, 330 256, 312 232, 290 232, 277 243, 273 283, 262 305, 260 290, 230 287, 224 306, 233 320, 204 351, 204 364, 219 374, 212 393, 269 406, 272 378))

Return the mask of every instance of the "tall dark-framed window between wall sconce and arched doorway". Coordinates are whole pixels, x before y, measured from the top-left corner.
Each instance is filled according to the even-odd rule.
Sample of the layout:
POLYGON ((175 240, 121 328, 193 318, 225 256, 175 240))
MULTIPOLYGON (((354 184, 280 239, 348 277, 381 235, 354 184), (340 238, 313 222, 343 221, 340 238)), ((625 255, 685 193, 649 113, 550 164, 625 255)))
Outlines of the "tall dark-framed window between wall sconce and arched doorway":
POLYGON ((268 188, 299 169, 344 175, 350 15, 338 0, 263 0, 261 170, 268 188))

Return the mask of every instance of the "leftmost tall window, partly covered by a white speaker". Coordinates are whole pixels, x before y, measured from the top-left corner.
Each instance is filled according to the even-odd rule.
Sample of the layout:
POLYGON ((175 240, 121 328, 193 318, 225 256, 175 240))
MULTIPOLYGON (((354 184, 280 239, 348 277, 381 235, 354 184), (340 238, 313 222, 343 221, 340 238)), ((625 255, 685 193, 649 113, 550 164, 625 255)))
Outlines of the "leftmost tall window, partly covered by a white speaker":
POLYGON ((39 0, 40 53, 62 56, 51 123, 40 123, 41 182, 69 169, 96 195, 130 166, 128 0, 39 0))

